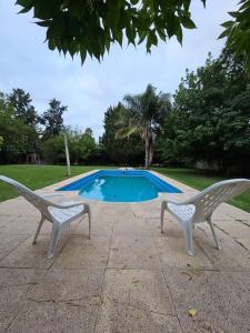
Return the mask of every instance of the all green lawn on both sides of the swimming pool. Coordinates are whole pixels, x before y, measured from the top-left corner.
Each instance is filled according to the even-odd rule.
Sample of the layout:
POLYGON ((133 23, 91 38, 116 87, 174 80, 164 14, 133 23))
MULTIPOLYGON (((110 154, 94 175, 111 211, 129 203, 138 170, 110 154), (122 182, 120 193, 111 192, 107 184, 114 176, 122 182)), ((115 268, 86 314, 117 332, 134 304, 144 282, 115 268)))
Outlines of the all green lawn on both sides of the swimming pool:
MULTIPOLYGON (((104 169, 110 167, 71 167, 71 176, 84 173, 94 169, 104 169)), ((197 190, 223 180, 224 178, 214 172, 193 169, 166 169, 153 168, 162 174, 176 179, 197 190)), ((63 165, 0 165, 0 174, 13 178, 26 184, 31 190, 44 188, 47 185, 66 180, 66 167, 63 165)), ((0 182, 0 201, 16 198, 18 193, 8 184, 0 182)), ((250 190, 230 201, 231 204, 250 212, 250 190)))

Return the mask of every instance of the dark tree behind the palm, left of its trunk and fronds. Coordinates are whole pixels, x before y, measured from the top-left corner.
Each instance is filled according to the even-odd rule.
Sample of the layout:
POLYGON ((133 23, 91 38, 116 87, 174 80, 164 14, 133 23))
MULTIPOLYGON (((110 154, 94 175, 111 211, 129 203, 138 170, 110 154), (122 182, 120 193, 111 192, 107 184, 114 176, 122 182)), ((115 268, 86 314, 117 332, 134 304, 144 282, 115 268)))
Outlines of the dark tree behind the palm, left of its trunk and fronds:
POLYGON ((138 133, 129 138, 116 139, 119 129, 120 112, 124 109, 122 103, 110 107, 104 113, 104 133, 100 140, 106 160, 119 164, 140 164, 143 161, 142 140, 138 133))

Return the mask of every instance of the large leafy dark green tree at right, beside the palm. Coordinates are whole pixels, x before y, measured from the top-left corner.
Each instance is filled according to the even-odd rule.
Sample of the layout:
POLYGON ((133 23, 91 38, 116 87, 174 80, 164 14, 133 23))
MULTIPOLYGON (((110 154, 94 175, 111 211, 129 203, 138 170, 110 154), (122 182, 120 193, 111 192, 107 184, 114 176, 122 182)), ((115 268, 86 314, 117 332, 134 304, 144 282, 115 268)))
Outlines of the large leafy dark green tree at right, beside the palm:
POLYGON ((223 172, 247 165, 250 80, 243 62, 226 48, 218 59, 209 56, 196 72, 187 71, 158 141, 166 161, 217 162, 223 172))

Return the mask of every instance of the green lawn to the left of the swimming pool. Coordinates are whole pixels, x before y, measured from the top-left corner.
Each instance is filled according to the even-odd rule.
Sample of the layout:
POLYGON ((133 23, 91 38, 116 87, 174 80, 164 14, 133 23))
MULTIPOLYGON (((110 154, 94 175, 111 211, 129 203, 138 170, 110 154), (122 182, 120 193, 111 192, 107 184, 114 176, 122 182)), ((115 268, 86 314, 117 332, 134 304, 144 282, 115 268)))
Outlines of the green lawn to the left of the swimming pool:
MULTIPOLYGON (((104 167, 71 167, 71 176, 104 167)), ((110 167, 109 167, 110 168, 110 167)), ((0 174, 20 181, 31 190, 41 189, 66 180, 63 165, 0 165, 0 174)), ((18 192, 0 181, 0 201, 18 196, 18 192)))

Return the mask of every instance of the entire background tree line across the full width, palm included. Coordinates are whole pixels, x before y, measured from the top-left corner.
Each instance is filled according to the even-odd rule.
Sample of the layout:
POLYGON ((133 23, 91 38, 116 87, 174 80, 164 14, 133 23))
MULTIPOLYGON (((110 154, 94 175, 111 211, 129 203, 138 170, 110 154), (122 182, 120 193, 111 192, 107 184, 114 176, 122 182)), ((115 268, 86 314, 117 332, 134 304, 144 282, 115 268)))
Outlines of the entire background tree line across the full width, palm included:
POLYGON ((52 99, 43 113, 30 94, 13 89, 0 93, 0 162, 20 163, 37 153, 42 162, 64 163, 62 131, 67 132, 71 163, 196 167, 222 172, 250 167, 250 78, 246 60, 229 48, 203 67, 187 70, 176 93, 129 94, 108 108, 103 135, 63 124, 67 107, 52 99))

